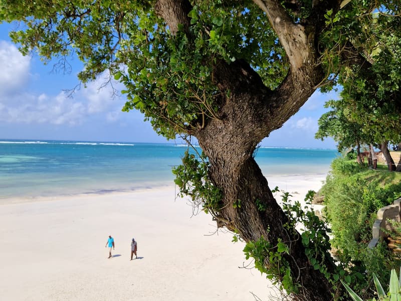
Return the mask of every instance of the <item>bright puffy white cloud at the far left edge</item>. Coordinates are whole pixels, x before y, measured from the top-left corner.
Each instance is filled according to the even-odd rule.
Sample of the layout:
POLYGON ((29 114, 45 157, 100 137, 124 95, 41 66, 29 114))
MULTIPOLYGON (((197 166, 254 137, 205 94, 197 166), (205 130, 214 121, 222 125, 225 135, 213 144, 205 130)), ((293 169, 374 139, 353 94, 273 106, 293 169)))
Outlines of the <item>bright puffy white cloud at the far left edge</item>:
POLYGON ((16 46, 0 41, 0 95, 21 89, 30 71, 30 57, 23 56, 16 46))

